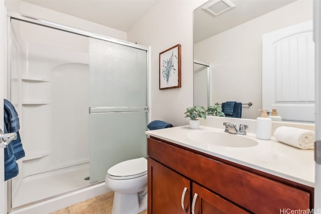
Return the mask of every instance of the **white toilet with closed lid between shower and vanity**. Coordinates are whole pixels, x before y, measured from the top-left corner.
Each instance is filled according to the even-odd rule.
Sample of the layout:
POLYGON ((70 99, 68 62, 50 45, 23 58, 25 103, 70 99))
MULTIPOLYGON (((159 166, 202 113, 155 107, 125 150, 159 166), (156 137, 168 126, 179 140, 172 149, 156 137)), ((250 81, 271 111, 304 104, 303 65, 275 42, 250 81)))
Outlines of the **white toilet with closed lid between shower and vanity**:
POLYGON ((112 214, 137 214, 147 208, 147 160, 125 160, 107 170, 105 183, 114 191, 112 214))

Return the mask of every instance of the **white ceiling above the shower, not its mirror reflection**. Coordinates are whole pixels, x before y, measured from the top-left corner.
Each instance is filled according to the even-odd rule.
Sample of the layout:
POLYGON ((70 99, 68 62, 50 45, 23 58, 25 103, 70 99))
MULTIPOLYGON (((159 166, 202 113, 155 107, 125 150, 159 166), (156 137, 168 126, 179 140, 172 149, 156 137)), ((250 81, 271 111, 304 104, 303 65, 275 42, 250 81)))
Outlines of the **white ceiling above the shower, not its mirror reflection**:
POLYGON ((128 32, 159 0, 23 0, 128 32))

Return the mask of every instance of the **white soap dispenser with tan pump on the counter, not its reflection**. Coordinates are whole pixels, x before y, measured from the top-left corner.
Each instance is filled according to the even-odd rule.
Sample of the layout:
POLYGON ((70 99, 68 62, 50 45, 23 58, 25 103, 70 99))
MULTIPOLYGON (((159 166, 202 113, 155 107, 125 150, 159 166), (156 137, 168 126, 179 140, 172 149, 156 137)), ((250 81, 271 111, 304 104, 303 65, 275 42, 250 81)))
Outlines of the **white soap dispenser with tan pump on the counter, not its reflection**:
POLYGON ((272 120, 267 117, 266 109, 259 109, 261 116, 256 118, 256 138, 258 139, 270 139, 272 120))

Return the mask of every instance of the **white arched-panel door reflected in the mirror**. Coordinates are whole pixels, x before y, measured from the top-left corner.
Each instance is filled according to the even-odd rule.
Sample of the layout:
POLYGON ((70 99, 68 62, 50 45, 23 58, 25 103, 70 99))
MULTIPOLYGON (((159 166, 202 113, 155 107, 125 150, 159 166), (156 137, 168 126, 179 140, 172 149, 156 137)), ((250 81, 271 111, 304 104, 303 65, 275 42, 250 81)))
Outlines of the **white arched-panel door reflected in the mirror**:
POLYGON ((284 120, 314 121, 312 20, 263 34, 262 106, 284 120))

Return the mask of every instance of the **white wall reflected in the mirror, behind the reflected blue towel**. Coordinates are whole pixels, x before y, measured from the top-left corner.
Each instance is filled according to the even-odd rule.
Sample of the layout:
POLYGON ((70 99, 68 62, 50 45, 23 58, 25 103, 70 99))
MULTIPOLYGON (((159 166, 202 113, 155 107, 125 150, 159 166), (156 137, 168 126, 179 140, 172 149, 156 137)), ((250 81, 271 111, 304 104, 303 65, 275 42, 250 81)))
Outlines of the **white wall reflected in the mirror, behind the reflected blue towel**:
POLYGON ((253 102, 243 118, 262 108, 262 34, 312 19, 312 0, 298 0, 194 46, 195 59, 212 63, 213 102, 253 102), (231 63, 233 61, 233 63, 231 63))

